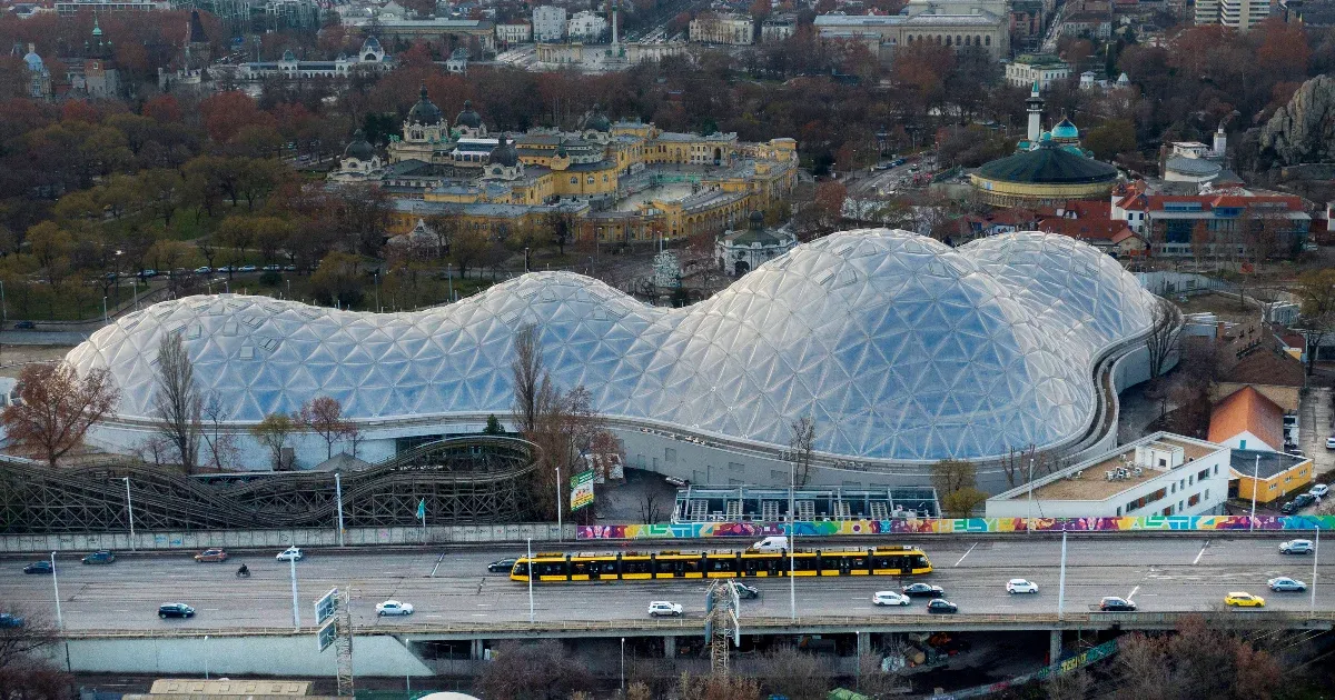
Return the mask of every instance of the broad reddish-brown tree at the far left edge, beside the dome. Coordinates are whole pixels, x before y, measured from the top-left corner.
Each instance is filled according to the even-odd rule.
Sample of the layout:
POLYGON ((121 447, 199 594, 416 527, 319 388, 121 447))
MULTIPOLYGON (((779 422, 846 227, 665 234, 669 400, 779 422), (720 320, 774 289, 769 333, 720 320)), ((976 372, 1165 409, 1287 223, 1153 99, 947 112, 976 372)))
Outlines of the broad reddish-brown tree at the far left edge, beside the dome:
POLYGON ((19 372, 19 399, 0 413, 0 424, 15 445, 55 468, 116 408, 120 391, 105 369, 80 377, 68 363, 29 364, 19 372))

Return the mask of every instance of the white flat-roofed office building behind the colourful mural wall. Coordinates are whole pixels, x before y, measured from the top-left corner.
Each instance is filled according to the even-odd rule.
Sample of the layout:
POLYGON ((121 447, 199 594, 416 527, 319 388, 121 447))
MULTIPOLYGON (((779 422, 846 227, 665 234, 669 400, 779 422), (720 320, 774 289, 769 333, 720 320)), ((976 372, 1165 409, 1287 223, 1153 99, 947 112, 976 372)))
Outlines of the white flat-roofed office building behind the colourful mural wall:
POLYGON ((1157 432, 992 496, 987 517, 1222 515, 1231 452, 1157 432))

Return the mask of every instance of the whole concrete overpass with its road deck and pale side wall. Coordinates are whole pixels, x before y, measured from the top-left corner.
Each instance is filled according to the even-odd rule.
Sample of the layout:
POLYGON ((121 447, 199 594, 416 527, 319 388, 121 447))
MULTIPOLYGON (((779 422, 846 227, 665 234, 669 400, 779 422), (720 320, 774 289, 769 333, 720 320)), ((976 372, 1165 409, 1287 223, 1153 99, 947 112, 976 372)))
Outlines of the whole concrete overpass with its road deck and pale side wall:
MULTIPOLYGON (((1059 653, 1064 635, 1164 629, 1184 615, 1207 615, 1212 624, 1250 629, 1331 629, 1335 588, 1327 592, 1322 581, 1335 572, 1319 557, 1280 555, 1278 543, 1283 539, 1279 533, 1071 537, 1060 613, 1059 537, 928 540, 924 548, 936 572, 926 580, 945 588, 947 597, 960 605, 959 615, 928 616, 922 604, 873 607, 874 591, 901 583, 893 577, 800 577, 793 620, 788 580, 752 579, 761 597, 742 603, 742 625, 748 635, 842 636, 864 651, 873 635, 885 632, 1047 632, 1049 648, 1059 653), (1279 575, 1316 583, 1316 595, 1270 592, 1266 580, 1279 575), (1012 577, 1036 581, 1040 593, 1008 595, 1004 584, 1012 577), (1230 591, 1263 595, 1267 608, 1224 609, 1223 596, 1230 591), (1140 612, 1097 612, 1099 599, 1109 595, 1133 599, 1140 612)), ((542 548, 558 547, 546 543, 542 548)), ((595 549, 583 544, 570 548, 595 549)), ((537 585, 530 623, 527 587, 486 573, 493 559, 522 553, 513 547, 495 552, 310 552, 298 564, 302 628, 294 631, 290 571, 287 563, 275 561, 275 553, 238 552, 226 564, 196 564, 186 553, 121 555, 108 567, 80 565, 73 555, 57 556, 68 640, 68 656, 60 660, 72 671, 89 672, 332 673, 332 652, 316 653, 311 603, 335 585, 352 591, 359 675, 433 675, 427 649, 439 644, 453 644, 463 656, 477 659, 486 647, 506 639, 597 644, 594 640, 629 637, 670 657, 678 644, 693 644, 702 636, 706 583, 700 580, 537 585), (252 579, 234 577, 239 561, 255 572, 252 579), (374 605, 391 597, 413 603, 417 613, 376 617, 374 605), (649 619, 647 601, 662 599, 681 603, 686 615, 649 619), (166 601, 188 603, 198 616, 159 620, 156 607, 166 601)), ((23 575, 24 563, 12 557, 0 563, 0 601, 53 620, 51 577, 23 575)))

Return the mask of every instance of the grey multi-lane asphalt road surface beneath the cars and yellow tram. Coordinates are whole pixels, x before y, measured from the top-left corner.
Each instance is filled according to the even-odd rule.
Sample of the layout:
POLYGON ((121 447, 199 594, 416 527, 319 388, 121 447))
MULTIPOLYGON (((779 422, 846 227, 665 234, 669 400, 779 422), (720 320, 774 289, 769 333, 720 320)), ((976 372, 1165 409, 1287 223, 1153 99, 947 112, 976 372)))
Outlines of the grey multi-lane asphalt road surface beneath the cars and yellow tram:
MULTIPOLYGON (((1266 580, 1286 575, 1311 583, 1312 557, 1280 555, 1284 537, 1097 537, 1072 539, 1068 545, 1065 609, 1091 611, 1103 596, 1129 596, 1141 611, 1208 611, 1220 605, 1224 593, 1248 591, 1267 599, 1268 609, 1306 611, 1308 593, 1272 593, 1266 580)), ((681 545, 677 545, 681 547, 681 545)), ((543 549, 554 549, 550 544, 543 549)), ((597 551, 570 547, 567 551, 597 551)), ((940 540, 925 551, 936 572, 926 577, 947 591, 961 612, 1041 613, 1056 612, 1060 540, 1017 536, 1008 540, 940 540), (1011 596, 1008 579, 1027 577, 1039 595, 1011 596)), ((527 621, 525 584, 503 575, 487 575, 495 552, 386 551, 310 552, 298 563, 303 625, 310 625, 311 603, 330 588, 351 587, 354 624, 360 628, 411 628, 421 624, 527 621), (434 573, 434 576, 433 576, 434 573), (410 617, 375 616, 375 604, 396 599, 411 603, 410 617)), ((188 553, 123 555, 111 565, 80 565, 75 555, 57 557, 61 612, 71 631, 200 629, 290 627, 292 593, 288 565, 274 560, 275 552, 234 556, 226 564, 196 564, 188 553), (250 580, 234 571, 246 561, 250 580), (183 601, 198 609, 192 620, 159 620, 158 604, 183 601)), ((0 601, 23 605, 29 613, 53 616, 52 581, 44 575, 24 575, 24 561, 0 563, 0 601)), ((1322 580, 1335 571, 1322 564, 1322 580)), ((758 600, 744 601, 744 612, 756 617, 786 617, 786 579, 749 579, 761 589, 758 600)), ((798 577, 797 611, 802 616, 872 613, 877 589, 890 589, 890 577, 798 577)), ((698 580, 618 584, 545 584, 534 588, 538 621, 643 619, 650 600, 673 600, 686 608, 688 619, 704 612, 706 584, 698 580)), ((1335 589, 1318 591, 1319 609, 1335 608, 1335 589)), ((921 612, 922 605, 882 608, 881 615, 921 612)), ((1250 611, 1239 611, 1247 615, 1250 611)))

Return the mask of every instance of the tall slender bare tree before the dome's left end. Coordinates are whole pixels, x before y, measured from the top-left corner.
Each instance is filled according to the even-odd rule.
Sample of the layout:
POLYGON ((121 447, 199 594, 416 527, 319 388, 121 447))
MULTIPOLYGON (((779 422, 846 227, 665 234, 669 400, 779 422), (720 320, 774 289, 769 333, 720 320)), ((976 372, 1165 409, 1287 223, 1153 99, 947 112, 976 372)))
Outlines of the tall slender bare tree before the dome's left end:
POLYGON ((176 448, 186 473, 194 473, 199 465, 202 407, 203 400, 195 388, 195 365, 186 352, 182 333, 167 333, 158 343, 154 417, 158 419, 158 433, 176 448))

